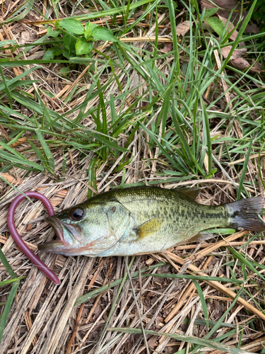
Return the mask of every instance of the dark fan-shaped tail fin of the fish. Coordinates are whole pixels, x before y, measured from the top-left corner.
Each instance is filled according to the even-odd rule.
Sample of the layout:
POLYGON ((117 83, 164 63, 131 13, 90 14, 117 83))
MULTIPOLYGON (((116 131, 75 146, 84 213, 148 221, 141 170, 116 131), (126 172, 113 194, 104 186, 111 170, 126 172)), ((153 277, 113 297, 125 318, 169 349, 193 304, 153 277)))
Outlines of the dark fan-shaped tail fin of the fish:
POLYGON ((225 205, 230 214, 230 226, 249 231, 265 231, 265 222, 259 218, 259 212, 264 207, 264 198, 254 197, 225 205))

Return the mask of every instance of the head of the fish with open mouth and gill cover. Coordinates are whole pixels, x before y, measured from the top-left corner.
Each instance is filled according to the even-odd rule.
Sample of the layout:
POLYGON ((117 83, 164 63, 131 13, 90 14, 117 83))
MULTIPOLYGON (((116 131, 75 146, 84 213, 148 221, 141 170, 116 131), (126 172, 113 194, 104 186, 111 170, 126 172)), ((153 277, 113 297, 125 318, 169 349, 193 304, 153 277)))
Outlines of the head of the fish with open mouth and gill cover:
POLYGON ((100 256, 122 238, 129 214, 117 202, 76 205, 48 217, 57 239, 38 246, 40 251, 65 256, 100 256))

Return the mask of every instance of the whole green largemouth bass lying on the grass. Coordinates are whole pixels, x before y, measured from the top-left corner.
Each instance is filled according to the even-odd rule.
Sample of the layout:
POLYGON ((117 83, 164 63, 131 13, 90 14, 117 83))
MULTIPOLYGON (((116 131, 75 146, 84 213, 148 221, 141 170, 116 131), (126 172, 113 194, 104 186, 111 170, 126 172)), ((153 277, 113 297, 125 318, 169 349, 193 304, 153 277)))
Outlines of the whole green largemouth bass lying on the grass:
POLYGON ((212 207, 195 201, 199 191, 147 186, 95 195, 48 217, 57 239, 38 249, 64 256, 132 256, 199 241, 206 229, 265 230, 259 218, 263 197, 212 207))

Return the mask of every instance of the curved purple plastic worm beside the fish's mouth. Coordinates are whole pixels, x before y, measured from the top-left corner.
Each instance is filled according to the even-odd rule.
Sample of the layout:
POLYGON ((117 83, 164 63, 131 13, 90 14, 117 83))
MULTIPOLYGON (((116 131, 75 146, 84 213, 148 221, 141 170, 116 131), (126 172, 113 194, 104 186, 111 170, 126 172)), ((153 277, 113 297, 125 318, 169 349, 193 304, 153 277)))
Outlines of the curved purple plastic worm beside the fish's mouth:
MULTIPOLYGON (((43 202, 43 204, 45 205, 45 207, 47 209, 49 217, 52 217, 52 215, 54 215, 54 208, 52 207, 52 204, 49 202, 49 200, 44 195, 37 193, 37 192, 26 192, 24 194, 28 195, 28 197, 30 197, 30 198, 37 198, 38 200, 43 202)), ((20 251, 22 251, 30 259, 30 261, 32 261, 37 266, 37 268, 39 268, 40 271, 42 271, 42 273, 45 273, 47 278, 52 280, 52 282, 55 282, 55 284, 59 285, 61 282, 60 282, 59 278, 57 277, 57 275, 49 267, 47 267, 47 265, 45 263, 40 261, 40 258, 38 258, 35 255, 35 253, 33 253, 33 251, 31 251, 31 249, 28 248, 28 246, 25 244, 23 239, 21 239, 20 234, 18 234, 18 231, 16 229, 16 225, 15 225, 15 221, 14 221, 14 217, 15 217, 16 207, 23 199, 25 199, 25 196, 23 194, 21 194, 21 195, 18 195, 18 197, 16 197, 13 200, 13 202, 11 202, 11 205, 10 205, 10 207, 8 209, 8 213, 7 213, 8 229, 9 229, 14 241, 18 245, 20 251)))

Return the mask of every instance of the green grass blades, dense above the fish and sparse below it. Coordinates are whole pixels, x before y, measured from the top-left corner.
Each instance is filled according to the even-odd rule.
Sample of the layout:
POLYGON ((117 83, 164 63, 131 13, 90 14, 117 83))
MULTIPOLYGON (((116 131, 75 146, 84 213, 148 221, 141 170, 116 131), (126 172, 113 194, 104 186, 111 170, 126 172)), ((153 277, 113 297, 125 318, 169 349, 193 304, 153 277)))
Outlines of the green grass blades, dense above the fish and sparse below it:
MULTIPOLYGON (((80 164, 91 156, 86 182, 95 190, 99 189, 98 191, 101 191, 107 183, 111 188, 124 188, 146 183, 149 185, 183 183, 190 180, 199 183, 201 179, 216 178, 229 179, 234 183, 237 199, 260 193, 260 185, 264 186, 262 181, 264 157, 261 156, 261 153, 264 153, 265 135, 264 72, 257 74, 251 72, 250 68, 241 71, 232 67, 229 62, 235 48, 244 42, 248 50, 249 63, 252 63, 253 59, 260 62, 262 69, 265 69, 263 52, 259 52, 259 43, 265 33, 244 34, 256 1, 252 1, 252 7, 238 31, 237 38, 229 42, 225 28, 220 40, 211 28, 209 29, 211 33, 205 30, 205 13, 201 12, 196 1, 176 1, 177 8, 172 0, 108 3, 95 1, 95 3, 100 8, 99 12, 94 9, 92 13, 74 16, 73 11, 73 16, 70 17, 82 23, 102 18, 105 23, 107 16, 110 16, 112 23, 108 23, 107 27, 120 40, 109 45, 107 50, 100 49, 102 42, 94 42, 94 51, 90 57, 76 56, 69 60, 65 57, 26 60, 24 55, 37 46, 47 51, 52 45, 59 43, 55 40, 50 41, 48 35, 25 45, 17 45, 16 42, 6 40, 5 44, 13 50, 13 53, 20 50, 19 54, 13 54, 13 59, 6 55, 5 47, 0 47, 0 124, 8 132, 8 139, 0 132, 0 173, 13 175, 16 170, 23 178, 43 173, 50 176, 52 181, 61 182, 69 173, 71 174, 66 167, 65 158, 66 153, 70 151, 78 152, 80 164), (177 37, 175 16, 182 9, 186 11, 182 20, 190 21, 192 31, 184 37, 177 37), (141 15, 136 16, 139 11, 141 15), (168 30, 167 35, 172 38, 172 50, 166 54, 163 52, 164 44, 158 42, 160 34, 158 16, 155 16, 155 13, 160 15, 165 13, 161 23, 171 25, 171 34, 168 30), (122 24, 118 23, 117 16, 122 16, 122 24), (141 28, 140 33, 138 25, 143 21, 149 23, 150 28, 151 25, 156 26, 155 41, 150 41, 143 47, 135 46, 134 42, 122 42, 121 39, 126 36, 139 37, 140 34, 143 36, 143 33, 147 33, 150 28, 141 28), (210 40, 213 45, 208 45, 210 40), (220 51, 228 45, 232 45, 230 55, 223 59, 220 51), (214 50, 218 51, 220 57, 219 69, 216 69, 214 50), (64 70, 60 72, 58 65, 64 70), (72 84, 88 65, 90 69, 74 86, 71 93, 66 98, 62 95, 59 100, 52 101, 56 93, 52 85, 45 83, 48 79, 48 69, 56 73, 59 81, 72 84), (16 67, 21 70, 18 76, 12 74, 12 69, 16 67), (42 81, 39 74, 36 74, 39 72, 42 81), (64 75, 64 72, 69 74, 64 75), (139 78, 136 87, 131 87, 133 72, 136 72, 139 78), (226 91, 220 84, 221 79, 225 81, 226 91), (33 91, 28 92, 32 87, 33 91), (205 97, 208 88, 211 89, 205 97), (226 93, 230 96, 229 102, 225 98, 226 93), (128 104, 130 99, 131 103, 128 104), (26 113, 20 110, 21 107, 25 108, 26 113), (93 125, 88 125, 88 121, 93 122, 93 125), (14 147, 13 144, 24 136, 28 139, 25 148, 20 150, 14 147), (141 139, 145 142, 144 148, 147 152, 141 148, 143 146, 141 139), (136 144, 139 144, 139 161, 142 169, 134 174, 134 181, 131 181, 128 171, 130 167, 135 167, 132 161, 136 157, 134 154, 136 144), (57 164, 58 152, 64 156, 61 166, 57 164), (260 156, 258 159, 252 159, 253 154, 260 156), (245 158, 245 161, 229 165, 230 162, 242 158, 245 158), (254 161, 254 164, 250 164, 250 161, 254 161), (101 171, 101 174, 98 174, 98 171, 101 171), (235 182, 239 183, 238 187, 235 182), (247 187, 251 187, 253 193, 250 193, 247 187)), ((61 16, 59 1, 52 1, 52 6, 55 21, 61 16)), ((20 8, 16 8, 6 23, 16 23, 25 18, 30 11, 37 13, 34 1, 25 1, 20 8)), ((177 23, 178 21, 181 19, 177 19, 177 23)), ((46 23, 45 28, 48 25, 49 23, 46 23)), ((61 37, 59 41, 61 45, 63 43, 61 37)), ((0 178, 6 183, 6 178, 1 175, 0 178)), ((16 188, 19 190, 19 186, 16 188)), ((216 191, 218 193, 218 188, 216 191)), ((88 197, 91 195, 91 190, 88 190, 88 197)), ((4 198, 5 196, 2 196, 1 200, 4 198)), ((223 194, 221 201, 228 200, 230 199, 223 194)), ((164 277, 194 280, 201 299, 205 325, 212 326, 211 331, 205 338, 196 339, 165 334, 177 341, 192 343, 189 353, 195 353, 203 346, 229 350, 230 353, 240 352, 240 348, 225 346, 225 338, 234 336, 235 329, 231 329, 225 336, 218 337, 218 343, 215 338, 210 340, 214 333, 218 333, 218 329, 223 328, 225 316, 232 309, 235 300, 218 321, 210 321, 211 314, 208 313, 207 301, 204 298, 204 280, 246 284, 247 273, 255 273, 252 281, 259 287, 264 281, 264 276, 259 270, 264 270, 264 265, 235 249, 228 248, 226 252, 228 257, 238 260, 236 269, 235 263, 226 265, 228 272, 226 278, 146 273, 162 266, 162 263, 131 274, 132 279, 139 277, 140 274, 142 278, 152 276, 154 279, 164 277), (241 276, 244 280, 238 280, 241 276)), ((11 288, 6 287, 9 295, 1 316, 1 341, 8 312, 23 277, 18 277, 13 272, 2 252, 0 259, 11 276, 11 279, 7 279, 6 276, 6 280, 0 282, 0 286, 7 286, 13 282, 11 288)), ((132 264, 133 260, 128 266, 127 273, 132 264)), ((126 279, 124 275, 76 300, 77 306, 119 285, 100 341, 107 333, 107 326, 126 279)), ((254 299, 252 293, 243 287, 237 292, 237 296, 241 293, 254 299)), ((259 298, 259 301, 254 299, 254 302, 261 311, 264 311, 262 298, 259 298)), ((143 333, 142 329, 111 330, 143 333)), ((156 336, 162 333, 146 331, 146 334, 156 336)), ((105 347, 102 345, 100 348, 103 350, 105 347)))

